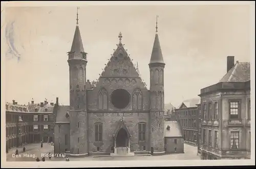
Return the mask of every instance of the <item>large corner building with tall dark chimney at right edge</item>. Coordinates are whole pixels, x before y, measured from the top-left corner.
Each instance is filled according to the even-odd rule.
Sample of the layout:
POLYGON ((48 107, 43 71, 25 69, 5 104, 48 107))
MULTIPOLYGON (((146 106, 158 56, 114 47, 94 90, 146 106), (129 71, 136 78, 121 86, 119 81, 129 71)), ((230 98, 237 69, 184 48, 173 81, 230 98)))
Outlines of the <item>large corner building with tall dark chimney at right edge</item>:
POLYGON ((250 158, 250 63, 234 64, 227 73, 201 89, 201 159, 250 158))

